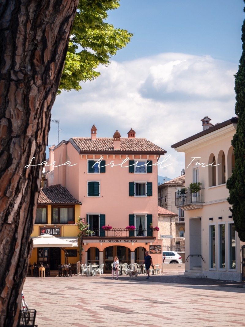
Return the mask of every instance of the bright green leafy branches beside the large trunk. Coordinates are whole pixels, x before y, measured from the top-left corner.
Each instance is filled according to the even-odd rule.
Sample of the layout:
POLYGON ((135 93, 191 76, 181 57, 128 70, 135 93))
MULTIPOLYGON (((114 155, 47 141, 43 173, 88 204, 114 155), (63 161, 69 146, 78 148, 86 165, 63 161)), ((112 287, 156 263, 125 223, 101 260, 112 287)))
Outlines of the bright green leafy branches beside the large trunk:
POLYGON ((79 1, 58 94, 78 91, 80 82, 98 77, 98 65, 108 65, 110 57, 130 41, 131 33, 105 22, 107 11, 118 7, 119 0, 79 1))

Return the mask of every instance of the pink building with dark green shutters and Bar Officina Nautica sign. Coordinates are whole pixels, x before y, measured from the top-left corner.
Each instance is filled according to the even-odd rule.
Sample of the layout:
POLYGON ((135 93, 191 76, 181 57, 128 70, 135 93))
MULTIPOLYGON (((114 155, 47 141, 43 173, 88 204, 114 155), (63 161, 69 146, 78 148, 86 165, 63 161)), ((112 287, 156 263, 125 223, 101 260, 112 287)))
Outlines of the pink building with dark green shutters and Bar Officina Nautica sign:
POLYGON ((135 134, 130 129, 126 138, 118 131, 111 138, 97 137, 93 125, 91 137, 50 148, 49 161, 56 167, 45 175, 48 186, 66 187, 82 203, 80 217, 94 231, 82 239, 82 263, 105 263, 105 271, 111 271, 114 256, 123 263, 142 262, 145 249, 153 263, 162 262, 161 241, 151 227, 158 224, 157 165, 166 151, 135 134), (112 229, 103 230, 105 225, 112 229), (128 231, 129 225, 135 230, 128 231))

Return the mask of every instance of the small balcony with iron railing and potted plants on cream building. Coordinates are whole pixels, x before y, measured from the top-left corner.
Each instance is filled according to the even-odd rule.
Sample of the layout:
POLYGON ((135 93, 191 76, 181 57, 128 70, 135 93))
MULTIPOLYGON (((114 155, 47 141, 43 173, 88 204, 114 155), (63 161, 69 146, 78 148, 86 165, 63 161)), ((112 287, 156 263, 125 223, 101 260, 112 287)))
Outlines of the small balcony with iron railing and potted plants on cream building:
POLYGON ((182 208, 183 210, 203 208, 203 195, 204 188, 201 188, 197 193, 191 193, 189 188, 185 190, 184 194, 182 194, 181 190, 179 190, 175 192, 175 206, 177 208, 182 208))

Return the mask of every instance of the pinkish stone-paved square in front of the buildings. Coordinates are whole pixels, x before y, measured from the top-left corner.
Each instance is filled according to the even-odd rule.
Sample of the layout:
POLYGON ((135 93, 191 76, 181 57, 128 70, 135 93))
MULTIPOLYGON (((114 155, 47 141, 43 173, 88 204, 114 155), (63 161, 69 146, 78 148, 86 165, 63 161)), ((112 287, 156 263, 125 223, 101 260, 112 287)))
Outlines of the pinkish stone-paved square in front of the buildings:
POLYGON ((41 327, 245 326, 242 282, 139 275, 27 277, 24 295, 41 327))

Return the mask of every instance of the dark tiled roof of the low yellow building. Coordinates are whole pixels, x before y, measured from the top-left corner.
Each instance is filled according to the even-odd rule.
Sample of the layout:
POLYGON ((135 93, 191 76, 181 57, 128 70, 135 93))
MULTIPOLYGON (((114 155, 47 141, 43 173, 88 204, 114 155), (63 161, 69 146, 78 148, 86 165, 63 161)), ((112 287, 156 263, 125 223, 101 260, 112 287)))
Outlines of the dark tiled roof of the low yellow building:
POLYGON ((60 184, 42 187, 38 197, 38 204, 82 204, 76 200, 67 188, 60 184))

